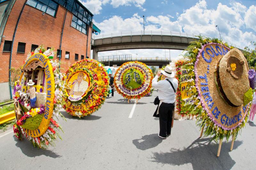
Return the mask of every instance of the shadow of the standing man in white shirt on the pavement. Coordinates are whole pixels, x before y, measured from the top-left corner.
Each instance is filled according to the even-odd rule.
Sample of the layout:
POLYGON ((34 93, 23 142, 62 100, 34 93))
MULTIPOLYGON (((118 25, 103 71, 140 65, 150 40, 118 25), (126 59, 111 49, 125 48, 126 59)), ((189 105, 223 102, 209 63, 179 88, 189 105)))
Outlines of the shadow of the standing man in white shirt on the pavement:
POLYGON ((150 148, 156 147, 159 143, 161 143, 163 139, 158 137, 158 134, 144 135, 140 139, 132 140, 132 143, 136 146, 136 148, 145 151, 150 148), (140 141, 143 140, 143 141, 140 141))

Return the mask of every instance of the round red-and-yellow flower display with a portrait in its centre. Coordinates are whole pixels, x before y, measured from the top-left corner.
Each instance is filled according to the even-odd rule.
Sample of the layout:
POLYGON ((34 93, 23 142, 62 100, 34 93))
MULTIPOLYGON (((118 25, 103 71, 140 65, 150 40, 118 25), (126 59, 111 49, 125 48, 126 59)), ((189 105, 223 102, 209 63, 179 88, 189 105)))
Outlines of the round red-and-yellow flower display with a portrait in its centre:
POLYGON ((108 74, 94 59, 83 59, 71 65, 66 71, 66 111, 79 118, 92 114, 100 108, 108 95, 108 74))

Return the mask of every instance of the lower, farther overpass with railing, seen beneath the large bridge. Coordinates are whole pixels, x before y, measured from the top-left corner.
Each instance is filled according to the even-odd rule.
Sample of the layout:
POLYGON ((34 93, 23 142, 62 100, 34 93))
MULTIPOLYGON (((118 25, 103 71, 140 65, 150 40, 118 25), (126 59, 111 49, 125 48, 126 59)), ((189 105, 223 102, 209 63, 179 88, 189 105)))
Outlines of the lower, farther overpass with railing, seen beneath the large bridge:
POLYGON ((105 66, 121 66, 126 61, 140 61, 148 66, 165 66, 170 63, 169 58, 158 58, 158 57, 132 57, 129 55, 114 55, 114 56, 102 56, 98 58, 99 62, 104 63, 105 66))

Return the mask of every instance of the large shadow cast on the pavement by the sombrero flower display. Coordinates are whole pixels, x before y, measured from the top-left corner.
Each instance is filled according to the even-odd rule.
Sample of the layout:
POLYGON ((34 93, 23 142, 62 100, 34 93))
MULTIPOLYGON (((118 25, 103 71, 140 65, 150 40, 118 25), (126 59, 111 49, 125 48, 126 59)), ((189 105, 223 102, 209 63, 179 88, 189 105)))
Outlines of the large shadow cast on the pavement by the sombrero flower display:
MULTIPOLYGON (((231 141, 228 143, 223 142, 218 158, 217 151, 219 144, 211 144, 211 138, 196 139, 188 148, 171 149, 170 152, 158 153, 155 152, 152 157, 153 162, 170 165, 184 165, 191 164, 194 170, 206 169, 231 169, 236 162, 230 157, 231 141), (207 144, 206 144, 207 143, 207 144)), ((235 150, 242 141, 235 141, 233 150, 235 150)))

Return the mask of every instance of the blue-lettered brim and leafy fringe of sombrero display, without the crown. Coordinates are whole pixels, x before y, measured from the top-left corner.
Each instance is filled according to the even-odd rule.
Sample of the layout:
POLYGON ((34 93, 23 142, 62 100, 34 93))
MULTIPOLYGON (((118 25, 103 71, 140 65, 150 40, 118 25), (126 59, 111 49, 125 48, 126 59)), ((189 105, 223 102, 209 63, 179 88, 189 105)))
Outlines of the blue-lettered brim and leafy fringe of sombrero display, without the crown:
MULTIPOLYGON (((187 77, 187 81, 184 81, 187 83, 185 90, 190 95, 186 105, 193 108, 190 114, 199 114, 197 125, 204 127, 204 135, 213 135, 213 139, 228 140, 231 135, 236 136, 245 126, 250 110, 249 104, 229 106, 218 92, 216 69, 218 70, 220 59, 230 49, 233 47, 219 39, 199 36, 199 41, 191 42, 184 55, 189 61, 183 63, 178 70, 180 74, 183 72, 183 79, 187 77)), ((246 67, 244 69, 245 73, 246 67)))

